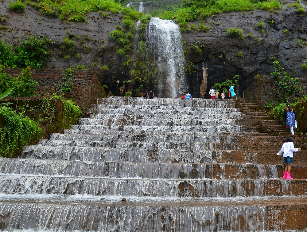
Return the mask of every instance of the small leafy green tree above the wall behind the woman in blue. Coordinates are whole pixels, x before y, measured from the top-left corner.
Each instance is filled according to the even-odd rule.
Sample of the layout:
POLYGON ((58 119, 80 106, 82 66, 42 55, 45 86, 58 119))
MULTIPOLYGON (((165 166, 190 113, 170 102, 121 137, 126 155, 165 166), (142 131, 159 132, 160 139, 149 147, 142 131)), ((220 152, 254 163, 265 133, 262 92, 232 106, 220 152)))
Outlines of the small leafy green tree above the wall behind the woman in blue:
POLYGON ((274 72, 270 73, 271 77, 273 77, 275 83, 278 88, 280 88, 279 94, 284 98, 287 98, 289 101, 289 96, 292 96, 293 93, 297 93, 301 91, 301 87, 297 86, 300 83, 299 78, 292 78, 290 74, 286 71, 283 72, 284 68, 279 67, 280 64, 278 61, 274 61, 274 72))

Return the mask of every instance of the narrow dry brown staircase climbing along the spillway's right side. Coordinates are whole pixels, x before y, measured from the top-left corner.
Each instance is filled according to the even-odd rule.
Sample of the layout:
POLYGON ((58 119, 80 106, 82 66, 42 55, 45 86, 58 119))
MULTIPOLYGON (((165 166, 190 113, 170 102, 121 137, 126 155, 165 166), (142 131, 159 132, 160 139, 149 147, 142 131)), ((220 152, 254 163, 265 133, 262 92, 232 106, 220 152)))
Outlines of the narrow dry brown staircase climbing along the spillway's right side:
POLYGON ((286 128, 279 120, 267 115, 266 111, 254 102, 246 102, 244 98, 239 98, 236 101, 236 108, 240 110, 243 119, 258 120, 260 132, 268 132, 271 135, 290 134, 289 128, 286 128))

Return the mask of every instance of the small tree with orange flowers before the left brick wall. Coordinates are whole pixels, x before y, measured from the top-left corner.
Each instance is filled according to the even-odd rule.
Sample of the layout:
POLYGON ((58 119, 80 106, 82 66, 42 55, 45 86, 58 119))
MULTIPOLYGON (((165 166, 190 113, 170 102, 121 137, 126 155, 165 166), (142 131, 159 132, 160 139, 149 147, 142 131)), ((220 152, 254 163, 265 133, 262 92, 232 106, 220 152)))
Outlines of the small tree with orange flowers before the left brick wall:
POLYGON ((14 87, 14 90, 11 96, 18 97, 15 107, 15 113, 17 110, 19 97, 32 96, 33 93, 36 91, 36 87, 38 85, 38 82, 32 79, 31 69, 29 67, 27 67, 26 69, 22 69, 18 77, 15 77, 13 79, 11 87, 14 87))

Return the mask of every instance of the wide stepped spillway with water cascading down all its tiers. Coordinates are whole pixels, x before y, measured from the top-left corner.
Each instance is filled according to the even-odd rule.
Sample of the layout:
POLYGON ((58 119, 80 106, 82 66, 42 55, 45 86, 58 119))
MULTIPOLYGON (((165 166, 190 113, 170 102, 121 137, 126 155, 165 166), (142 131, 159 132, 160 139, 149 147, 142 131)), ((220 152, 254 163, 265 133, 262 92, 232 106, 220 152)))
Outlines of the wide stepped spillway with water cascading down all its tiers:
MULTIPOLYGON (((110 97, 90 111, 0 158, 0 230, 307 228, 307 153, 282 179, 286 131, 260 132, 277 122, 253 103, 110 97)), ((306 147, 307 136, 293 139, 306 147)))

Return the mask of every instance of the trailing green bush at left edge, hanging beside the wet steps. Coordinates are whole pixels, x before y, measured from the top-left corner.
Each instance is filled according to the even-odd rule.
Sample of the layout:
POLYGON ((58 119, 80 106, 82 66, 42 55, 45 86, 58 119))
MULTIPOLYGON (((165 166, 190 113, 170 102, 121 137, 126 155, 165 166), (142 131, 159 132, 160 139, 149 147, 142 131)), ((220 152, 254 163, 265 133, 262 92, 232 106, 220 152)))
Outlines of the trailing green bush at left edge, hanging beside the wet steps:
POLYGON ((13 157, 22 146, 38 140, 43 133, 37 122, 22 113, 14 114, 10 108, 1 107, 0 115, 4 120, 4 127, 0 129, 1 157, 13 157))

